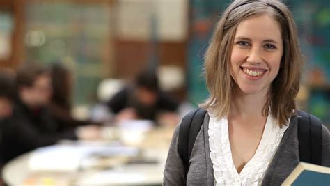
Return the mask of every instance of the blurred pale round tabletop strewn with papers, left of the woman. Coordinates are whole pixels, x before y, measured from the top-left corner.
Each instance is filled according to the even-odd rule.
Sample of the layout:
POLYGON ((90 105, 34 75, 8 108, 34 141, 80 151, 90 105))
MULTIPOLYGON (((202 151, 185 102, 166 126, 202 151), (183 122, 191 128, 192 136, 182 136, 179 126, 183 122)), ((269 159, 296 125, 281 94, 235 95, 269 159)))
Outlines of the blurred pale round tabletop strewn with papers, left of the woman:
MULTIPOLYGON (((108 129, 109 130, 109 129, 108 129)), ((9 185, 162 185, 173 127, 110 141, 70 141, 38 148, 3 167, 9 185), (130 141, 133 142, 133 141, 130 141)), ((126 135, 127 135, 126 134, 126 135)))

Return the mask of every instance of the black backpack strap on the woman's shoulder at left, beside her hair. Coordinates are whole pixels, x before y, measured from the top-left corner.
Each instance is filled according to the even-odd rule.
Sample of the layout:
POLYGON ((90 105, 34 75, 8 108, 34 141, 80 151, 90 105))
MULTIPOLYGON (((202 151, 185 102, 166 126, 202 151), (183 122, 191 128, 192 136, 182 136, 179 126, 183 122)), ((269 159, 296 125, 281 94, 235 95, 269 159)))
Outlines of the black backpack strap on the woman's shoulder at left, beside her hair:
POLYGON ((184 164, 186 176, 189 170, 191 151, 194 147, 197 134, 201 130, 201 126, 203 125, 205 114, 205 109, 196 109, 195 111, 191 111, 189 112, 189 114, 184 116, 180 124, 178 151, 184 164))

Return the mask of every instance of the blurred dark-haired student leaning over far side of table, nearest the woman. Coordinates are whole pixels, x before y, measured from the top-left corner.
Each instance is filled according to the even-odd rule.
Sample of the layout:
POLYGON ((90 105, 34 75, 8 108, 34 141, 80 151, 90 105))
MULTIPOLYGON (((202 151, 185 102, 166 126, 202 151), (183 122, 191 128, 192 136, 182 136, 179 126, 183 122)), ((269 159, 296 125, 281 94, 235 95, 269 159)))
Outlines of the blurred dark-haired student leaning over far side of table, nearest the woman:
MULTIPOLYGON (((176 118, 179 103, 162 92, 155 72, 143 71, 136 77, 135 84, 128 86, 107 102, 116 114, 115 121, 125 119, 176 118)), ((175 119, 176 121, 176 119, 175 119)))

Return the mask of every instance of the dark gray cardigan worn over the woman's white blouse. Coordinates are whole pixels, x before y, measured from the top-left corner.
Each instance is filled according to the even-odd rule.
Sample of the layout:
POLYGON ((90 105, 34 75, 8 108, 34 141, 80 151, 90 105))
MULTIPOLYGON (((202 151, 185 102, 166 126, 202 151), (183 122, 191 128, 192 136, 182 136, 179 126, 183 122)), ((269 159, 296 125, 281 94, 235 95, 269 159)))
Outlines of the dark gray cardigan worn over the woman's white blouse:
MULTIPOLYGON (((176 127, 168 152, 164 170, 164 185, 214 185, 213 165, 210 159, 208 124, 210 116, 206 114, 204 123, 196 137, 190 157, 190 168, 187 182, 184 178, 184 166, 178 154, 178 132, 176 127)), ((285 178, 299 163, 297 136, 297 116, 292 116, 290 125, 285 131, 274 158, 269 164, 262 185, 281 185, 285 178)), ((330 134, 322 126, 322 166, 330 167, 330 134)))

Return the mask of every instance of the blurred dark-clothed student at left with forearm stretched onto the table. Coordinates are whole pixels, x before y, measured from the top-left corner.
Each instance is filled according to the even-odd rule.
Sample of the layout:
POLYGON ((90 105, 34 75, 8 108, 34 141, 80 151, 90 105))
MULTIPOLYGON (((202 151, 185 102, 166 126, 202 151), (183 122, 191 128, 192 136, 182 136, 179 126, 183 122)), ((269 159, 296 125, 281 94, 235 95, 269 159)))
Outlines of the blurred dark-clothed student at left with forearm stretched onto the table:
POLYGON ((100 131, 93 127, 61 130, 47 109, 52 95, 49 72, 28 65, 17 72, 17 100, 13 115, 3 130, 3 160, 35 148, 56 144, 61 139, 95 139, 100 131))

